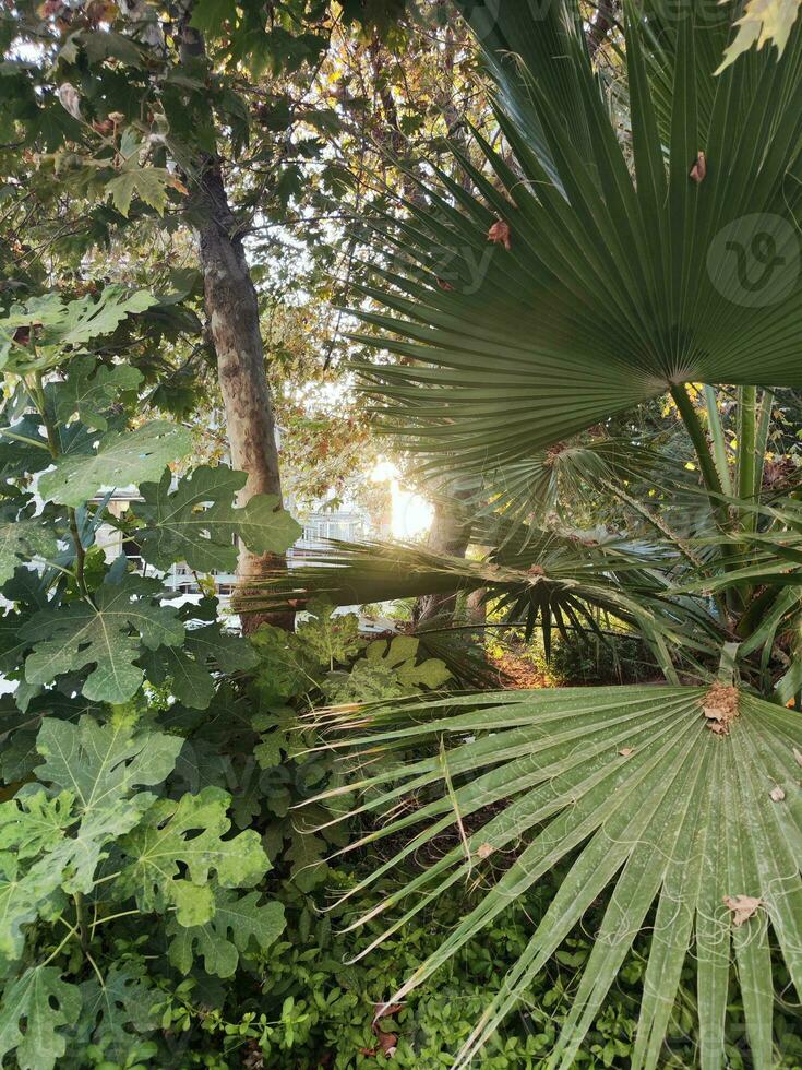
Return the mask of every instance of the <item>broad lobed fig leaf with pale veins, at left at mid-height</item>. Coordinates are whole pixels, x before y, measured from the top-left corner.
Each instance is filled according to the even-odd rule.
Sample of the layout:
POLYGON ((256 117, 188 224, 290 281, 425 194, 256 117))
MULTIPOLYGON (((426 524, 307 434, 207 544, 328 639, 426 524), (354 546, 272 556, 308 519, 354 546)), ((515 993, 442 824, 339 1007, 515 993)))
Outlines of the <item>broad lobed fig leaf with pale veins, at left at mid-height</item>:
POLYGON ((176 646, 184 637, 178 610, 158 606, 152 595, 157 581, 125 575, 108 578, 94 602, 80 599, 59 608, 43 609, 22 629, 22 639, 34 650, 25 661, 28 683, 49 683, 65 673, 94 665, 82 687, 87 699, 127 702, 139 689, 143 670, 134 662, 143 647, 176 646))

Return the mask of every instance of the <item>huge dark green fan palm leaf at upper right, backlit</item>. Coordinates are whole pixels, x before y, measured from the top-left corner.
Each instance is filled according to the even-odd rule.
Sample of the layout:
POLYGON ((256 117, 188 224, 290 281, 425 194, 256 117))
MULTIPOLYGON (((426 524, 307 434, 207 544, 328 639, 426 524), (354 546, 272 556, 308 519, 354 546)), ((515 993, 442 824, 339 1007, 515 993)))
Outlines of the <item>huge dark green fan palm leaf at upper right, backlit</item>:
POLYGON ((776 255, 798 263, 800 28, 779 61, 752 51, 714 78, 721 28, 706 24, 701 2, 657 37, 630 11, 631 173, 576 4, 549 4, 537 23, 518 0, 467 7, 475 24, 481 9, 498 12, 483 44, 514 165, 477 135, 486 169, 460 156, 477 193, 442 175, 431 210, 410 204, 406 223, 382 231, 382 285, 363 293, 385 311, 362 311, 376 332, 360 340, 400 360, 359 368, 385 429, 447 465, 482 469, 681 383, 758 373, 802 383, 799 273, 778 276, 755 304, 727 251, 749 250, 765 230, 776 255), (657 69, 670 76, 668 153, 657 69), (488 243, 496 219, 510 227, 508 250, 488 243), (446 254, 456 266, 444 287, 436 264, 446 254))

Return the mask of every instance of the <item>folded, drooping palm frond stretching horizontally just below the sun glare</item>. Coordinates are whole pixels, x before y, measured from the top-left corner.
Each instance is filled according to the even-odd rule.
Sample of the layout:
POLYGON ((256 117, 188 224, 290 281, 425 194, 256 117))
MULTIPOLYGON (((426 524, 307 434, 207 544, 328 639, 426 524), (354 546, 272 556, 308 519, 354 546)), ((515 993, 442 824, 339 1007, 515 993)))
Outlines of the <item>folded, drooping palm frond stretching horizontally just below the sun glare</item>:
MULTIPOLYGON (((478 540, 490 542, 492 530, 482 531, 477 530, 478 540)), ((689 655, 714 654, 723 638, 719 623, 704 606, 669 597, 668 581, 657 570, 665 560, 648 546, 542 531, 519 531, 478 561, 412 544, 331 542, 303 566, 277 570, 251 585, 234 607, 238 613, 271 613, 288 606, 303 609, 315 597, 352 606, 483 591, 484 601, 508 622, 523 625, 527 638, 536 627, 542 630, 547 656, 552 629, 567 642, 576 635, 600 635, 595 611, 633 627, 653 643, 669 643, 689 655)))

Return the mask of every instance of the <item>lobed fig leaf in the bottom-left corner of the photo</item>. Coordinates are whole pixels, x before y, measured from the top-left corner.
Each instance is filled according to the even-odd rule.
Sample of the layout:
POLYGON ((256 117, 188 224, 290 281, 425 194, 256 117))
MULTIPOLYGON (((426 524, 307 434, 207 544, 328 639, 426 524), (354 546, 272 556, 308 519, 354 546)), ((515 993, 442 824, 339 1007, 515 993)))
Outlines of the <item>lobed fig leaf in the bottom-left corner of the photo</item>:
POLYGON ((65 1030, 80 1012, 81 992, 61 979, 60 970, 26 970, 0 1002, 0 1065, 13 1050, 20 1070, 52 1070, 67 1050, 65 1030))

